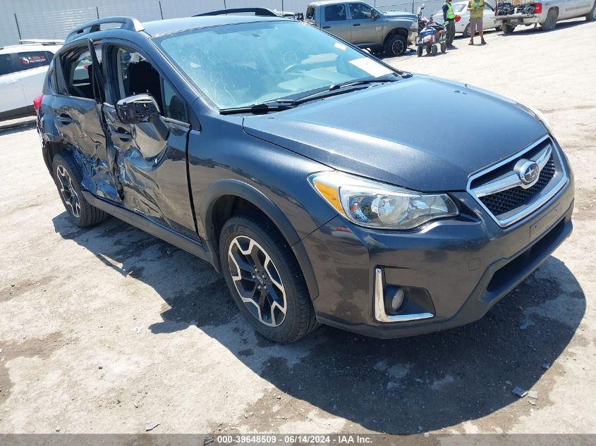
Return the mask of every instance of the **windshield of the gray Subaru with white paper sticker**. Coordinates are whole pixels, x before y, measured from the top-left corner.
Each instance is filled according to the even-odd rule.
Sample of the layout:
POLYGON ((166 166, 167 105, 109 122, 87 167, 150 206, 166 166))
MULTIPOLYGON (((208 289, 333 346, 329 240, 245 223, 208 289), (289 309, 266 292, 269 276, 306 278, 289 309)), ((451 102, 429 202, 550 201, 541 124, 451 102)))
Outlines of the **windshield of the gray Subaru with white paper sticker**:
POLYGON ((393 73, 315 27, 290 20, 190 30, 157 44, 219 109, 393 73))

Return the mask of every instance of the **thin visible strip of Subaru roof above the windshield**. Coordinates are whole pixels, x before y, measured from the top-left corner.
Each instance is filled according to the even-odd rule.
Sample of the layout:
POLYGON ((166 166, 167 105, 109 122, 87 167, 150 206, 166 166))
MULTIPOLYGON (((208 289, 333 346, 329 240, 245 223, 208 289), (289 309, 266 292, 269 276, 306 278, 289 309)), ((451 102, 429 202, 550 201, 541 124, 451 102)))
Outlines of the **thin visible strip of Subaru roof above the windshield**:
POLYGON ((148 35, 155 37, 164 34, 171 34, 172 32, 195 30, 198 28, 206 28, 212 26, 289 20, 290 19, 283 17, 241 16, 226 14, 223 16, 169 18, 166 20, 155 20, 154 22, 146 22, 142 25, 145 27, 145 32, 147 32, 148 35))

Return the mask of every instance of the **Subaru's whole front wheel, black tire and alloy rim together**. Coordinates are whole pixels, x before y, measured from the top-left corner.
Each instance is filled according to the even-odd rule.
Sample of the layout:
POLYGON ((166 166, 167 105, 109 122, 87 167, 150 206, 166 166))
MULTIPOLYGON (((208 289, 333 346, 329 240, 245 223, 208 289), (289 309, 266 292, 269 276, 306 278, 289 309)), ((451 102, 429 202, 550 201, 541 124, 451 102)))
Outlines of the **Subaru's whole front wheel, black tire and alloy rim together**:
POLYGON ((234 302, 261 335, 288 343, 319 326, 298 261, 270 221, 230 218, 221 229, 219 259, 234 302))

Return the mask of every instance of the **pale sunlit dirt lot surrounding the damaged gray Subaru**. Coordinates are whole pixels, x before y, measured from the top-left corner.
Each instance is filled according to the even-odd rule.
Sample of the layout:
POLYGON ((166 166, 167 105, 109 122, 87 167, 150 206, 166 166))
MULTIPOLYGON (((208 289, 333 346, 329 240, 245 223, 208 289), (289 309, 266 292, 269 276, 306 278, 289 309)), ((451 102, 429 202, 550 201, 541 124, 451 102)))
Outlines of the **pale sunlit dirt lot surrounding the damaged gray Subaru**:
MULTIPOLYGON (((484 319, 445 333, 269 343, 208 264, 115 218, 69 223, 35 130, 2 131, 0 433, 596 433, 596 58, 573 43, 596 23, 486 39, 390 62, 543 111, 576 174, 575 230, 484 319)), ((413 106, 434 104, 396 113, 413 106)))

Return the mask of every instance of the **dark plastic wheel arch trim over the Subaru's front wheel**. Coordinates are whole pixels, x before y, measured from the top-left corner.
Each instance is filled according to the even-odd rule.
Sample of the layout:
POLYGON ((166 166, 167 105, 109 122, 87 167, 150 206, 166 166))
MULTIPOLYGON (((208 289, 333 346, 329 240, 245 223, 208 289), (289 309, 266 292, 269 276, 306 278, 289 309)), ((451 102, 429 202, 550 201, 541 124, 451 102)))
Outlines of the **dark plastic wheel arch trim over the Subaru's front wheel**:
POLYGON ((310 298, 315 299, 318 296, 317 281, 308 254, 303 245, 298 243, 300 236, 279 206, 260 190, 240 180, 217 180, 205 191, 198 212, 205 229, 207 246, 213 252, 212 259, 217 271, 221 272, 217 253, 219 253, 219 234, 224 223, 239 213, 260 213, 273 223, 288 242, 302 270, 310 298))

